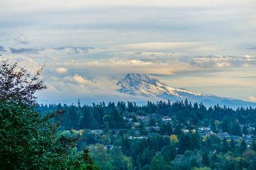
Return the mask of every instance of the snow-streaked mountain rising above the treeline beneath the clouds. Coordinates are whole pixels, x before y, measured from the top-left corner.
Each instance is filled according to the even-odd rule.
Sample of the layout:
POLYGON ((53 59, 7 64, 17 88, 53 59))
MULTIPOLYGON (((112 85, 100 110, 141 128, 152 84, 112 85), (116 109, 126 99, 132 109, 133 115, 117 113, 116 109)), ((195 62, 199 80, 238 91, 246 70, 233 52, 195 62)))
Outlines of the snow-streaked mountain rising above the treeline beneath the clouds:
POLYGON ((156 77, 148 74, 129 73, 121 81, 116 84, 119 86, 118 92, 130 94, 132 96, 156 97, 172 102, 177 100, 185 100, 197 103, 203 103, 205 106, 213 106, 220 104, 220 106, 237 107, 256 107, 256 103, 246 102, 238 99, 231 99, 227 97, 218 97, 212 94, 200 94, 191 92, 186 89, 177 89, 169 87, 165 83, 159 81, 156 77))

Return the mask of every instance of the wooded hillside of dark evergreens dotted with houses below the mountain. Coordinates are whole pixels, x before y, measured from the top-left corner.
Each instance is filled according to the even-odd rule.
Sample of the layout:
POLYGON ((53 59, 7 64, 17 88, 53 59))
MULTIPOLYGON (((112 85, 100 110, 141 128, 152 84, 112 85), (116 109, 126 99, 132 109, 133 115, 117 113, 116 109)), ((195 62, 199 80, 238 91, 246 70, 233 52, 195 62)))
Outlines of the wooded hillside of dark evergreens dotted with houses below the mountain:
POLYGON ((255 169, 255 108, 185 101, 41 104, 65 110, 61 135, 81 135, 100 169, 255 169), (202 128, 210 131, 204 131, 202 128), (93 130, 94 129, 94 130, 93 130), (97 129, 97 130, 95 130, 97 129), (205 134, 206 133, 206 134, 205 134))

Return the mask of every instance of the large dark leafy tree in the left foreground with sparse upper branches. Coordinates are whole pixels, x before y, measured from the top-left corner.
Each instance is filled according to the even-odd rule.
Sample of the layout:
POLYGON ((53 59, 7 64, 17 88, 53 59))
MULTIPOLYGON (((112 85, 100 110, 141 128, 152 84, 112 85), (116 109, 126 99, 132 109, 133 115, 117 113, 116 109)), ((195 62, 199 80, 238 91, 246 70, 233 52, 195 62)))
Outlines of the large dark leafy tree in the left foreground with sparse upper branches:
POLYGON ((42 117, 35 111, 39 79, 15 62, 0 65, 0 166, 1 169, 98 169, 88 149, 77 153, 79 136, 57 138, 63 111, 42 117))

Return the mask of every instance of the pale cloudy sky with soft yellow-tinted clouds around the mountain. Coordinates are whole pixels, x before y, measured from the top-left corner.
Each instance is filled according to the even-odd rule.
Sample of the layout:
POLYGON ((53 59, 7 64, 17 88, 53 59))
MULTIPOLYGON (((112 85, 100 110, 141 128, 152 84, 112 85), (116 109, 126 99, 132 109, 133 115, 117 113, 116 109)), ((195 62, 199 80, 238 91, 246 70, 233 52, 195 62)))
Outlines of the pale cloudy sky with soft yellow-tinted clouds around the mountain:
POLYGON ((40 103, 145 100, 127 73, 256 102, 256 1, 0 1, 0 53, 31 73, 40 103))

